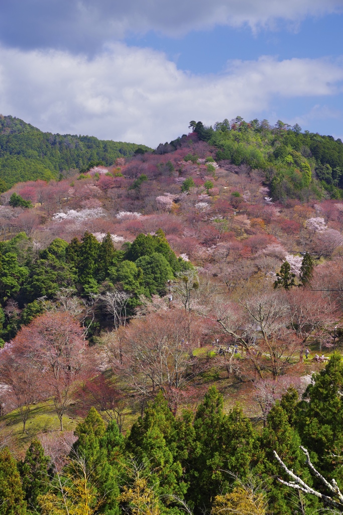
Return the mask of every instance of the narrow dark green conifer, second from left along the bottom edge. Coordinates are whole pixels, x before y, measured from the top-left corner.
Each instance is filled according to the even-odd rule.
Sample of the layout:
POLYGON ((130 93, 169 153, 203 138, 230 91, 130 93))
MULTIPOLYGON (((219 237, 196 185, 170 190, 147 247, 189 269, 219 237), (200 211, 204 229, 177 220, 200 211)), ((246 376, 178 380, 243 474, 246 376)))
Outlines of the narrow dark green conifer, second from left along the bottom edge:
POLYGON ((37 497, 48 490, 49 463, 50 458, 45 456, 41 442, 33 439, 20 464, 25 500, 29 507, 38 508, 37 497))

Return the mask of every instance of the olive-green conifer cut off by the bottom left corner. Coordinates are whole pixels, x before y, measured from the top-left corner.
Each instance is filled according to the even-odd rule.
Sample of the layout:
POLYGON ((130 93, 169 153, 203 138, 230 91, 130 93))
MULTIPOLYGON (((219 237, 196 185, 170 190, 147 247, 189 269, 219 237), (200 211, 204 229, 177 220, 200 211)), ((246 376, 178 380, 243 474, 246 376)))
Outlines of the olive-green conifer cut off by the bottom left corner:
POLYGON ((26 502, 16 461, 5 447, 0 451, 0 515, 25 515, 26 502))

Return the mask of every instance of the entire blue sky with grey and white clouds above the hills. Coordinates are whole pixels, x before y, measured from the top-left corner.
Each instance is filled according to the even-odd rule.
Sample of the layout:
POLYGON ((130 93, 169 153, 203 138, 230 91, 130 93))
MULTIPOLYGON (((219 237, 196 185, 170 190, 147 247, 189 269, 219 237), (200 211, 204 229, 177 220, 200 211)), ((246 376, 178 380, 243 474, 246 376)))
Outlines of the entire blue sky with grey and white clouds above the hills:
POLYGON ((243 116, 343 139, 343 0, 0 1, 0 113, 156 147, 243 116))

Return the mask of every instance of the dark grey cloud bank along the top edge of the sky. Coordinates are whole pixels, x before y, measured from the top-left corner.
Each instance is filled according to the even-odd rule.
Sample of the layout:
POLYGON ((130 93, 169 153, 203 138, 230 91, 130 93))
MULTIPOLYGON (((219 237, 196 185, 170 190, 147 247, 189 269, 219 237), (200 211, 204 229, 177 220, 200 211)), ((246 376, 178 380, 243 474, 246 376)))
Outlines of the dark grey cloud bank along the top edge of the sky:
POLYGON ((341 12, 342 0, 11 0, 2 7, 6 44, 91 50, 127 33, 168 36, 215 25, 273 26, 341 12), (15 23, 14 23, 15 20, 15 23))

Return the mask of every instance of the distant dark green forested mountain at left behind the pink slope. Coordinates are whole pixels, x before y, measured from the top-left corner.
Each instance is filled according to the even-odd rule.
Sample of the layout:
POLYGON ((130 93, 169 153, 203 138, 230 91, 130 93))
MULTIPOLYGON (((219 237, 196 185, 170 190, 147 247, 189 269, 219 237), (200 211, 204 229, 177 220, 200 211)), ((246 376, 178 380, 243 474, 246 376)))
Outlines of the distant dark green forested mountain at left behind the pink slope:
POLYGON ((58 179, 64 170, 86 168, 90 162, 112 165, 137 148, 151 150, 94 136, 42 132, 20 118, 0 115, 0 187, 4 191, 16 182, 58 179))

